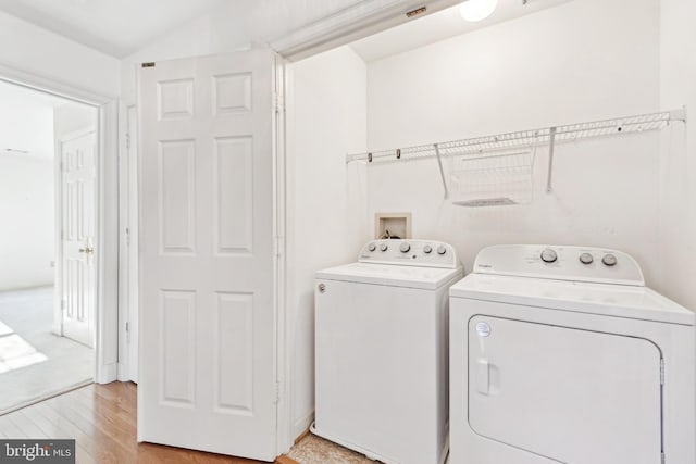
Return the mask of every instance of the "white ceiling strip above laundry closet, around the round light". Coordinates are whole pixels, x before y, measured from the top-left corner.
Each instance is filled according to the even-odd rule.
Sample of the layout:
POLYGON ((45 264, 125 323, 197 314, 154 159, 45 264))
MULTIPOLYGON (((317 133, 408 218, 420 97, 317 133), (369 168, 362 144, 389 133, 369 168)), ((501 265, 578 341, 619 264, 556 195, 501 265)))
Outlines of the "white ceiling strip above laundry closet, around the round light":
POLYGON ((478 23, 462 20, 457 5, 365 37, 353 42, 352 48, 364 61, 375 61, 569 1, 571 0, 498 0, 496 11, 478 23))

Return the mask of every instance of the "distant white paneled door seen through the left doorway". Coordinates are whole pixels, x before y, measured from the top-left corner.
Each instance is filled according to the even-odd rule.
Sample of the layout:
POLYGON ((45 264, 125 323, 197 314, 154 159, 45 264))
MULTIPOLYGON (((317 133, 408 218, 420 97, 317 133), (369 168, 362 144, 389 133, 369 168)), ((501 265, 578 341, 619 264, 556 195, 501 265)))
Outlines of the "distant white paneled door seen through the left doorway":
POLYGON ((61 140, 63 336, 95 344, 97 134, 61 140))

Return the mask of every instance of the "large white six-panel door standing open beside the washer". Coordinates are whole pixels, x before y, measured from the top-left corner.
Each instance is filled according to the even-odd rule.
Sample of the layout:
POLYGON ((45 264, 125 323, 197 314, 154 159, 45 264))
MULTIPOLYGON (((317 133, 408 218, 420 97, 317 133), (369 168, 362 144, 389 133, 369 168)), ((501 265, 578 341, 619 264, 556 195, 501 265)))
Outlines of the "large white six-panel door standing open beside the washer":
POLYGON ((140 70, 141 441, 275 459, 273 64, 140 70))

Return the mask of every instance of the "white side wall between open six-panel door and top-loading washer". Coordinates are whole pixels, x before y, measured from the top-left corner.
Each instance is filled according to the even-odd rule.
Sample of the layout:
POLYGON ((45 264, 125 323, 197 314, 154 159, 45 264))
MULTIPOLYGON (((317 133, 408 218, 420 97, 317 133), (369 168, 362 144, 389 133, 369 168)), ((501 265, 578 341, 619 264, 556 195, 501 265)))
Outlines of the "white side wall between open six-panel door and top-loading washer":
POLYGON ((366 70, 343 47, 288 71, 287 314, 295 438, 314 412, 314 273, 353 261, 362 244, 358 229, 365 227, 365 200, 347 183, 357 172, 345 154, 365 149, 366 70))

